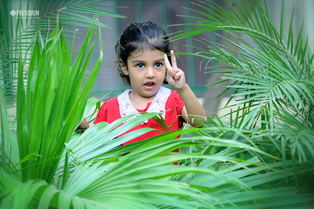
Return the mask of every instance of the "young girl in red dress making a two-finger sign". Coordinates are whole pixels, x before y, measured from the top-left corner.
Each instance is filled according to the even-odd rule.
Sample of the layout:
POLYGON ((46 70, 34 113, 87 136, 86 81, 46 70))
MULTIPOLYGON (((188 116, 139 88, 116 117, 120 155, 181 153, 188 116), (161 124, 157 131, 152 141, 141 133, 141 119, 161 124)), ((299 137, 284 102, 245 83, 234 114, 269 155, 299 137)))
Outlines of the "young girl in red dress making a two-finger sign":
MULTIPOLYGON (((123 31, 116 44, 118 71, 125 84, 132 89, 104 102, 94 124, 102 121, 112 123, 123 116, 140 112, 169 110, 161 113, 161 116, 173 131, 182 128, 187 121, 194 127, 198 126, 188 115, 206 116, 203 107, 185 82, 184 72, 177 67, 174 51, 165 35, 161 25, 151 22, 134 23, 123 31), (165 55, 167 53, 171 56, 165 55), (176 91, 162 86, 168 83, 176 91)), ((164 131, 157 121, 150 118, 124 134, 144 127, 164 131)), ((158 134, 159 131, 151 131, 122 145, 158 134)))

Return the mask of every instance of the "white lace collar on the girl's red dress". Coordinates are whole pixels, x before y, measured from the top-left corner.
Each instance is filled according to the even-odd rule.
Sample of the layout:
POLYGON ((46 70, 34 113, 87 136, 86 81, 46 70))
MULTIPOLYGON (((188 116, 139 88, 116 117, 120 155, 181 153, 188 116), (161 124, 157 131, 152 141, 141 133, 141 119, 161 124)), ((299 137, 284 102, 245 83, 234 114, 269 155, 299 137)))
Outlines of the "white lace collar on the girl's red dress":
MULTIPOLYGON (((122 94, 118 96, 121 117, 139 113, 138 110, 133 106, 130 100, 129 93, 131 91, 132 89, 127 89, 126 91, 124 91, 122 94)), ((161 116, 165 119, 164 111, 165 111, 166 102, 167 102, 168 97, 170 96, 170 93, 171 93, 170 89, 167 89, 164 86, 161 86, 146 112, 163 112, 161 113, 161 116)), ((134 116, 133 118, 137 117, 138 115, 134 116)), ((124 123, 126 122, 127 121, 125 121, 124 123)), ((141 124, 143 125, 144 123, 141 123, 141 124)))

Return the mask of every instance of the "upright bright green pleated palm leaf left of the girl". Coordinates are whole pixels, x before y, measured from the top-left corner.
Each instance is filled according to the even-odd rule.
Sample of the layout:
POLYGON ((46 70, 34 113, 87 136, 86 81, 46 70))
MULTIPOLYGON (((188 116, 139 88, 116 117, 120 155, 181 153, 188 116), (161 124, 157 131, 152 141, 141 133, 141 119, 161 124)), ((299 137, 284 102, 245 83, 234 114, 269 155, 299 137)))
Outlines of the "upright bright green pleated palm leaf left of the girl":
POLYGON ((52 32, 42 52, 36 41, 26 88, 22 74, 24 65, 20 56, 17 92, 19 157, 23 159, 32 153, 40 156, 33 156, 21 164, 22 182, 37 178, 44 179, 48 183, 51 182, 64 143, 68 142, 73 130, 80 123, 89 91, 95 82, 102 60, 102 51, 100 51, 100 56, 88 77, 87 84, 80 91, 97 35, 100 36, 98 28, 97 35, 92 40, 93 27, 94 24, 89 28, 72 67, 70 67, 70 62, 73 43, 67 55, 67 46, 62 30, 58 31, 56 28, 52 32), (88 50, 90 41, 92 41, 92 45, 88 50), (49 143, 45 143, 46 139, 50 140, 49 143), (38 164, 38 166, 35 167, 33 164, 38 164), (52 170, 45 169, 47 166, 52 170))

